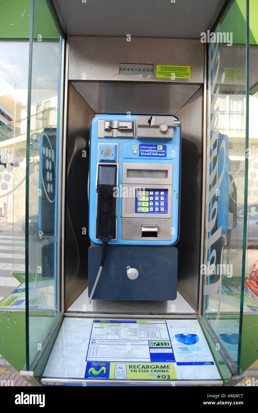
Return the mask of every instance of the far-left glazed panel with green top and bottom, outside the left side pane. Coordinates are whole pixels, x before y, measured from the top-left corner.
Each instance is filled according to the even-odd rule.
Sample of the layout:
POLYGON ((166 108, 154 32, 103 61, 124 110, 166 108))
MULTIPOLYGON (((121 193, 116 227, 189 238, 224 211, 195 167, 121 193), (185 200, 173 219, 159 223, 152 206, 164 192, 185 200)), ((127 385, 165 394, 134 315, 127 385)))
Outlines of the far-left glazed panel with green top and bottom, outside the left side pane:
POLYGON ((30 1, 4 0, 0 11, 0 354, 19 371, 26 361, 24 229, 30 1))

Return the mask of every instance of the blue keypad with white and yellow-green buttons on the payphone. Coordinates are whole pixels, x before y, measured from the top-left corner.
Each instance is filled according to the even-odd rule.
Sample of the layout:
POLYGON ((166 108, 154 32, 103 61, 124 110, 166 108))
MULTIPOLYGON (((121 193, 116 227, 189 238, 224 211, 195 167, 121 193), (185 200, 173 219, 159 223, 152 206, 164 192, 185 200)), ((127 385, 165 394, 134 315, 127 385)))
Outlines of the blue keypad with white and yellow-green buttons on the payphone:
POLYGON ((167 189, 136 190, 136 214, 167 214, 167 189))

